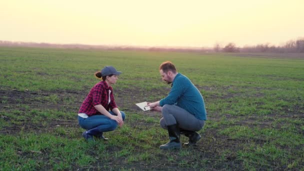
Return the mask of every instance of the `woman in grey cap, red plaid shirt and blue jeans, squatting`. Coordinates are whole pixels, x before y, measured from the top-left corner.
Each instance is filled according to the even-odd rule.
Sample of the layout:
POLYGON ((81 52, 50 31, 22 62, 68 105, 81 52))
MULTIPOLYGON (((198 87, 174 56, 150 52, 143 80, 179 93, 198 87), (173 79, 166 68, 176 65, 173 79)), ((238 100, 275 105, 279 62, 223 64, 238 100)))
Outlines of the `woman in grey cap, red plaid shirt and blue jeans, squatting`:
POLYGON ((79 125, 87 129, 82 133, 86 140, 94 140, 93 136, 107 139, 102 132, 123 125, 125 114, 117 108, 111 87, 120 73, 113 66, 105 66, 100 72, 95 72, 95 76, 102 78, 102 81, 91 88, 78 112, 79 125))

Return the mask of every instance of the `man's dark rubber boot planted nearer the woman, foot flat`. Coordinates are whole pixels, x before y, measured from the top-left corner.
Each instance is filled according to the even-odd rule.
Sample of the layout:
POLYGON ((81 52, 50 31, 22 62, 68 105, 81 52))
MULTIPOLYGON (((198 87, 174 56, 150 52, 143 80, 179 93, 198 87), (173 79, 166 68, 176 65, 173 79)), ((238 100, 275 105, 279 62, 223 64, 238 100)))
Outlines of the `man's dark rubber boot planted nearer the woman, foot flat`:
POLYGON ((172 124, 172 125, 168 125, 168 134, 169 134, 169 139, 170 141, 168 141, 166 144, 160 145, 159 148, 160 149, 179 149, 181 148, 181 143, 179 140, 179 136, 180 136, 180 132, 179 132, 179 127, 177 126, 177 124, 172 124))

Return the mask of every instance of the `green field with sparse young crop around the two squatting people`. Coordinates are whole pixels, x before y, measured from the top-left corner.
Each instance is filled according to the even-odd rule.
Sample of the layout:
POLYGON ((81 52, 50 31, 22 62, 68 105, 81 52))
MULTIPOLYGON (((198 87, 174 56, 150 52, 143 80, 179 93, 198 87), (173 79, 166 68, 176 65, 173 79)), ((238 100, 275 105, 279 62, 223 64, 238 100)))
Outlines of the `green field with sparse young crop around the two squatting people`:
MULTIPOLYGON (((181 136, 182 142, 187 139, 181 136)), ((226 53, 0 47, 0 170, 303 170, 304 59, 226 53), (194 147, 163 151, 156 101, 172 61, 202 93, 208 120, 194 147), (86 142, 77 111, 105 65, 123 127, 86 142)))

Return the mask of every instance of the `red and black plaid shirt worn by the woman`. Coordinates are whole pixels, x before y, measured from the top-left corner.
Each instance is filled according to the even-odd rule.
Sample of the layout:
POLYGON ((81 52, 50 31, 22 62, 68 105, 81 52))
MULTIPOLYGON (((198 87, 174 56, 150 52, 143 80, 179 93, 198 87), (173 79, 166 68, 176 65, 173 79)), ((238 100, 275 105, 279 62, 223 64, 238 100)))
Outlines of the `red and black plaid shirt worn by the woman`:
POLYGON ((88 95, 82 102, 78 113, 85 113, 88 116, 101 114, 94 107, 97 104, 101 104, 106 110, 117 107, 113 96, 113 89, 111 86, 108 86, 105 81, 100 81, 91 88, 88 95), (111 101, 109 104, 108 104, 108 90, 111 90, 110 93, 111 101))

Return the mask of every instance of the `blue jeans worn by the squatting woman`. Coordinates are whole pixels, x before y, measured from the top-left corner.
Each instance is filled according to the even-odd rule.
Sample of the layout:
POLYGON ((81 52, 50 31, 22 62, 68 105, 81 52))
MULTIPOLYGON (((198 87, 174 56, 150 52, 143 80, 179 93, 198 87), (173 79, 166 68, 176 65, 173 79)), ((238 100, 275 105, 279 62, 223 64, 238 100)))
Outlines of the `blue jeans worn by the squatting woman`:
MULTIPOLYGON (((112 115, 115 115, 112 111, 109 111, 112 115)), ((125 119, 125 114, 123 111, 120 111, 122 120, 125 119)), ((117 127, 117 122, 112 120, 105 115, 97 114, 92 115, 87 118, 78 116, 78 123, 84 129, 91 129, 97 127, 100 132, 108 132, 115 130, 117 127)))

